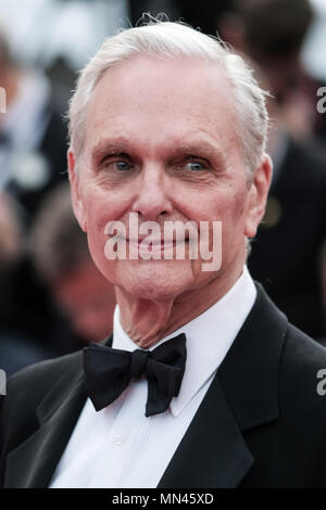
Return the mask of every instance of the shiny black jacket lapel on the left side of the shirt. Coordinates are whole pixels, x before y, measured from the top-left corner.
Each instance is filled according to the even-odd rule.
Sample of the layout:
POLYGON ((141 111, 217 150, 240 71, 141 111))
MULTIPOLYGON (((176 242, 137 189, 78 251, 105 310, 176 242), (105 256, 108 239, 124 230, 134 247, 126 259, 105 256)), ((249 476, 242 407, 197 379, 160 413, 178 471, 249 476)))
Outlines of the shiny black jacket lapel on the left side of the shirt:
POLYGON ((37 408, 40 428, 7 459, 4 487, 47 487, 86 401, 83 353, 37 408))

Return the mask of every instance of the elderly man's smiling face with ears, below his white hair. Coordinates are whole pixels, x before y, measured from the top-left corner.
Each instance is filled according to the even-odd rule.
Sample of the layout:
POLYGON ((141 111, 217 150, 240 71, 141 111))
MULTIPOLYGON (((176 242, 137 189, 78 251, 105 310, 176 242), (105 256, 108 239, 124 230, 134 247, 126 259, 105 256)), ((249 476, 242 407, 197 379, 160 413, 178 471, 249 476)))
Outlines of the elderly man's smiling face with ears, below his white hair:
POLYGON ((70 170, 77 219, 114 285, 170 299, 214 279, 227 286, 241 272, 244 235, 254 235, 261 219, 268 171, 248 183, 233 102, 224 72, 190 60, 137 56, 97 85, 78 173, 72 152, 70 170), (105 226, 122 221, 128 244, 130 213, 139 225, 156 221, 162 232, 164 221, 222 221, 221 269, 203 271, 202 260, 189 257, 108 260, 105 226))

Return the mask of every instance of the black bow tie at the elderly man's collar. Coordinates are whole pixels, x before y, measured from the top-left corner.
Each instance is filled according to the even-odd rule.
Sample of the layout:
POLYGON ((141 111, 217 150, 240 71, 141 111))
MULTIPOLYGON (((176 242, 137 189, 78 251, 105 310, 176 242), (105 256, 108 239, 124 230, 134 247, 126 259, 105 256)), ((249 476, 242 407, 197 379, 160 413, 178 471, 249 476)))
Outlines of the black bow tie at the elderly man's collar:
POLYGON ((179 393, 186 365, 185 333, 153 350, 120 350, 104 345, 84 347, 86 391, 97 411, 115 400, 130 383, 146 374, 146 416, 164 412, 179 393))

